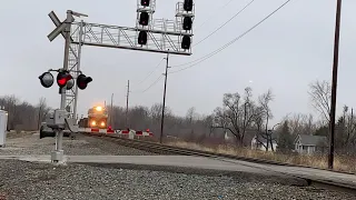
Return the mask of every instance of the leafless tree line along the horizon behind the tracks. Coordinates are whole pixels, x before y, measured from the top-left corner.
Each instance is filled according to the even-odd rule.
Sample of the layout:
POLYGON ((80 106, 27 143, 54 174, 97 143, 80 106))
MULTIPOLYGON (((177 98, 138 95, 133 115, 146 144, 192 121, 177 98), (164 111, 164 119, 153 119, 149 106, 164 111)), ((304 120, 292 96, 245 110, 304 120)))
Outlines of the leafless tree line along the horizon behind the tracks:
MULTIPOLYGON (((243 93, 225 93, 221 106, 210 114, 201 116, 195 108, 188 109, 186 116, 176 116, 166 107, 165 137, 177 137, 194 142, 225 142, 226 136, 233 137, 236 146, 250 146, 251 138, 259 136, 266 139, 266 149, 273 147, 274 140, 278 141, 278 149, 289 151, 294 149, 294 139, 298 134, 329 134, 330 113, 330 84, 327 81, 310 83, 308 91, 312 103, 320 114, 315 120, 310 113, 288 113, 277 124, 271 124, 274 118, 270 102, 275 96, 267 90, 254 98, 253 89, 245 88, 243 93)), ((40 98, 37 104, 20 101, 16 96, 0 97, 0 108, 9 112, 8 129, 38 130, 41 121, 52 110, 47 106, 46 99, 40 98)), ((88 108, 89 109, 89 108, 88 108)), ((115 129, 150 129, 156 136, 160 133, 162 104, 151 107, 131 107, 126 114, 126 109, 119 106, 107 108, 115 129)), ((356 152, 356 119, 354 110, 347 106, 338 117, 336 124, 336 149, 356 152)))

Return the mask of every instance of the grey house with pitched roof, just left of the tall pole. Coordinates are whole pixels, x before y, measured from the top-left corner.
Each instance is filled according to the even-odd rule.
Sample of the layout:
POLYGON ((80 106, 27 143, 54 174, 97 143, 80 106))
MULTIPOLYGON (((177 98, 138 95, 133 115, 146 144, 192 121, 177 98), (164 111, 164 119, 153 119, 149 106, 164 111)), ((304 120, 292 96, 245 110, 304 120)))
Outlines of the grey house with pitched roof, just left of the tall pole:
POLYGON ((304 154, 313 154, 315 152, 324 152, 326 149, 326 137, 298 134, 295 139, 295 152, 304 154))

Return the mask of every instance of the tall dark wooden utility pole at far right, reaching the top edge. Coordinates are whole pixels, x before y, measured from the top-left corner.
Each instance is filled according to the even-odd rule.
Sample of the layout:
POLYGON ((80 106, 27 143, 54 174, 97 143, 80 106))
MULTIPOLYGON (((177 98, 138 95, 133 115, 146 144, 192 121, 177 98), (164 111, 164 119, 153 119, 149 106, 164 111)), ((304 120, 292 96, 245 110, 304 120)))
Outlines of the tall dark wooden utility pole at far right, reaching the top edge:
POLYGON ((328 168, 334 168, 334 142, 335 142, 335 112, 336 112, 336 92, 337 92, 337 70, 338 70, 338 49, 340 38, 340 21, 342 21, 342 0, 337 0, 336 8, 336 24, 335 24, 335 43, 334 43, 334 64, 333 64, 333 86, 332 86, 332 109, 330 109, 330 147, 328 168))

